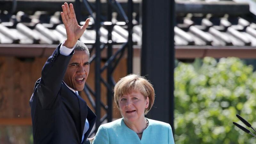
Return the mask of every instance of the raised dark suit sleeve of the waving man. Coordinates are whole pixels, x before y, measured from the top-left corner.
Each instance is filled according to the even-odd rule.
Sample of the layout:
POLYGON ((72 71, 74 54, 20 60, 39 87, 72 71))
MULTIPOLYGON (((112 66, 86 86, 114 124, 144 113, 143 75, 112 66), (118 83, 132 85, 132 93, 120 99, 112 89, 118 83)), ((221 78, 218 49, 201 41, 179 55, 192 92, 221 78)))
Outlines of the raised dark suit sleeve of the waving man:
POLYGON ((61 83, 69 60, 74 54, 74 51, 69 56, 60 54, 60 45, 45 62, 42 77, 35 90, 43 109, 51 109, 58 103, 57 96, 60 92, 61 83))

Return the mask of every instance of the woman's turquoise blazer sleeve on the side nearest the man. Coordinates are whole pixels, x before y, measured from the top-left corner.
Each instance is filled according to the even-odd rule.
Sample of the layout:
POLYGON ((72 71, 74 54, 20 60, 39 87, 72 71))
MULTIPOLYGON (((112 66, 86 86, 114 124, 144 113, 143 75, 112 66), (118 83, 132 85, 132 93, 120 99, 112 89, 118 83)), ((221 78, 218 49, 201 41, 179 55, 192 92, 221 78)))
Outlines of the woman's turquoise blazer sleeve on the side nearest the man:
POLYGON ((108 131, 106 127, 100 126, 92 144, 109 144, 108 131))

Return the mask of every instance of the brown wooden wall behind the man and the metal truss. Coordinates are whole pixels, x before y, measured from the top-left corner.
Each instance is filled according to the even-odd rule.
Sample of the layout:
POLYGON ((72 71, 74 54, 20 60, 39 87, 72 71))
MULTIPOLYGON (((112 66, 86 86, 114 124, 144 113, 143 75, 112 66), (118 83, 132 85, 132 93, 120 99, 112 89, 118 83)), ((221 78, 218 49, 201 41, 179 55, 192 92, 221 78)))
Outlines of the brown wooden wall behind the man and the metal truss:
MULTIPOLYGON (((31 124, 29 99, 36 80, 41 76, 41 70, 46 60, 47 58, 19 59, 0 56, 0 125, 31 124)), ((118 81, 125 75, 126 59, 122 59, 114 71, 114 79, 118 81)), ((94 89, 94 76, 94 63, 92 63, 87 79, 87 84, 92 89, 94 89)), ((106 77, 106 71, 102 73, 102 76, 106 77)), ((107 91, 103 84, 101 87, 101 98, 106 103, 107 91)), ((81 95, 92 108, 85 94, 81 95)), ((115 106, 114 101, 113 106, 115 106)), ((120 117, 116 108, 114 108, 113 117, 120 117)))

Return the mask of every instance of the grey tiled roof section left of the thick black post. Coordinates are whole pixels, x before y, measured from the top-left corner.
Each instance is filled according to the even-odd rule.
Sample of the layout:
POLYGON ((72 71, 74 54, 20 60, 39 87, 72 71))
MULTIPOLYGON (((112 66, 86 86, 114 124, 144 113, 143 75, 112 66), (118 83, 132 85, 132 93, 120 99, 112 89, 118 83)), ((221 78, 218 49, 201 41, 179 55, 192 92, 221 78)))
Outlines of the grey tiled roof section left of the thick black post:
MULTIPOLYGON (((0 44, 59 44, 66 37, 66 30, 60 20, 60 12, 53 15, 47 12, 36 11, 32 15, 24 12, 17 12, 15 15, 8 15, 1 12, 0 14, 0 44)), ((93 20, 91 20, 93 21, 93 20)), ((80 24, 83 24, 82 21, 80 24)), ((90 22, 91 27, 93 22, 90 22)), ((112 31, 112 39, 115 43, 124 43, 128 37, 128 31, 123 26, 125 22, 116 22, 112 31)), ((100 28, 100 41, 107 43, 108 26, 103 23, 100 28)), ((134 41, 138 41, 141 29, 135 26, 134 41)), ((92 28, 88 28, 84 35, 80 38, 83 43, 94 44, 96 32, 92 28)))

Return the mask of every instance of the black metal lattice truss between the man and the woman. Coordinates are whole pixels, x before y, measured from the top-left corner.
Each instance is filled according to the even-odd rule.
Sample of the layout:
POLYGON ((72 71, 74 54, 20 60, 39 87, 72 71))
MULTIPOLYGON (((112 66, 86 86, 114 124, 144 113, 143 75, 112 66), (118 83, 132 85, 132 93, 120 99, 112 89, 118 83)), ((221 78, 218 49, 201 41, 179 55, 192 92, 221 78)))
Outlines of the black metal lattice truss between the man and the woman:
MULTIPOLYGON (((95 62, 95 91, 92 90, 87 84, 84 86, 84 92, 86 93, 89 102, 92 104, 92 107, 95 109, 95 114, 97 115, 96 123, 95 123, 95 129, 91 132, 92 134, 95 134, 102 122, 107 119, 108 122, 112 121, 112 114, 113 114, 113 88, 116 84, 116 82, 113 79, 113 72, 118 65, 121 58, 124 56, 125 49, 127 48, 127 74, 132 73, 132 57, 133 57, 133 42, 132 42, 132 12, 133 12, 133 2, 132 0, 128 0, 128 17, 125 14, 123 8, 116 0, 107 0, 108 2, 108 15, 107 18, 100 15, 100 0, 96 0, 95 6, 89 3, 87 0, 83 0, 83 4, 86 7, 86 10, 90 13, 92 19, 94 19, 95 24, 93 25, 93 28, 96 30, 96 41, 95 44, 92 46, 92 51, 95 51, 95 53, 91 56, 89 62, 92 63, 92 61, 95 62), (126 43, 123 43, 120 46, 120 49, 113 53, 113 42, 112 42, 112 30, 115 25, 111 22, 112 20, 112 12, 113 9, 118 12, 119 15, 123 18, 126 25, 128 26, 128 41, 126 43), (93 16, 93 11, 96 12, 96 17, 93 16), (107 21, 107 22, 106 22, 107 21), (108 43, 101 43, 100 42, 100 27, 104 26, 108 29, 108 43), (104 49, 107 49, 107 60, 103 67, 101 67, 102 59, 100 57, 100 52, 104 49), (101 76, 101 73, 107 70, 107 80, 104 80, 101 76), (100 99, 100 84, 103 84, 108 92, 107 92, 107 105, 105 105, 101 99, 100 99), (95 98, 95 100, 93 99, 95 98), (106 111, 106 114, 102 117, 101 116, 101 108, 103 108, 106 111)), ((76 0, 76 4, 80 5, 80 0, 76 0)), ((80 13, 81 11, 78 10, 76 13, 76 17, 78 18, 78 23, 80 23, 80 13)), ((91 136, 90 135, 90 136, 91 136)))

